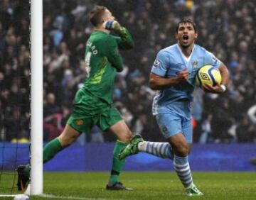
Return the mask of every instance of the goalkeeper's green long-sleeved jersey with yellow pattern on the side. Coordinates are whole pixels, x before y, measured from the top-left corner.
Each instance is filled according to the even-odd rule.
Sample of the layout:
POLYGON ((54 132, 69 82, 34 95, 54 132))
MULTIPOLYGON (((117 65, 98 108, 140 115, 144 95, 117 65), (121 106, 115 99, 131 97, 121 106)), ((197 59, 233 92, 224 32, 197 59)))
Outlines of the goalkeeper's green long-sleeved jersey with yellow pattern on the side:
POLYGON ((87 79, 84 89, 87 93, 112 104, 112 91, 116 72, 123 70, 119 49, 134 47, 134 41, 126 28, 121 28, 119 36, 95 30, 87 40, 85 66, 87 79))

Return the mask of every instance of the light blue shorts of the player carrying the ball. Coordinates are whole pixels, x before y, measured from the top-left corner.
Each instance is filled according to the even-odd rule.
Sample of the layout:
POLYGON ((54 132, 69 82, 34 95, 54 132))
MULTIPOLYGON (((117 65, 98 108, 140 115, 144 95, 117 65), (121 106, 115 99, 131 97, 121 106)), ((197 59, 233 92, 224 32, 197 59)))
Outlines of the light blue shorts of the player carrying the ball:
POLYGON ((192 143, 193 128, 189 101, 175 101, 171 105, 160 106, 155 117, 161 133, 166 139, 182 133, 186 142, 192 143))

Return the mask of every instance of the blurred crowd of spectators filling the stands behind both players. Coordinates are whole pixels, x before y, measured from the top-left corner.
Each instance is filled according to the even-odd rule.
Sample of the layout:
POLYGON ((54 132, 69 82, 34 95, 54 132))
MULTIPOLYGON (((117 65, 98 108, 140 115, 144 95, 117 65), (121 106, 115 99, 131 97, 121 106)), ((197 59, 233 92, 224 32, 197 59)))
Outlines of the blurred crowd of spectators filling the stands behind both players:
MULTIPOLYGON (((149 72, 156 53, 176 43, 178 21, 189 17, 198 26, 196 43, 213 52, 227 65, 231 75, 228 91, 223 95, 196 89, 194 142, 256 142, 256 2, 253 0, 43 0, 44 140, 61 133, 72 111, 75 91, 86 78, 85 43, 92 33, 88 13, 95 4, 107 6, 134 38, 134 50, 121 52, 125 67, 117 74, 113 94, 114 104, 134 133, 142 133, 146 140, 164 140, 151 116, 155 91, 148 85, 149 72)), ((26 6, 28 3, 24 1, 0 3, 0 127, 1 133, 8 133, 1 140, 28 137, 26 6), (11 126, 14 125, 11 120, 16 118, 19 128, 14 136, 11 130, 17 132, 17 129, 11 126)), ((114 140, 110 134, 102 135, 97 127, 86 136, 80 143, 114 140)))

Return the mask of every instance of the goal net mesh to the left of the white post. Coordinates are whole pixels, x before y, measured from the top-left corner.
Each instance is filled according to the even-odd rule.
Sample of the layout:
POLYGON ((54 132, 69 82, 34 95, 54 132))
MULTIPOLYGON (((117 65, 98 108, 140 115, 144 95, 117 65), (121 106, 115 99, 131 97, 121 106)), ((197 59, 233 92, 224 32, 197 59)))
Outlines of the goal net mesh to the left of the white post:
POLYGON ((30 138, 30 2, 0 1, 0 194, 16 194, 30 138))

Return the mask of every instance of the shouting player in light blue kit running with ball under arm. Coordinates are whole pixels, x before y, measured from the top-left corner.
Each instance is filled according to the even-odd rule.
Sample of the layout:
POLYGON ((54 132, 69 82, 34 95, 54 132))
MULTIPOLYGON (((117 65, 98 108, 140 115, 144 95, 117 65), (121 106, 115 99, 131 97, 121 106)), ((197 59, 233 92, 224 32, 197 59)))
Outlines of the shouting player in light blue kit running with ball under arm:
POLYGON ((159 51, 149 78, 151 89, 157 90, 152 107, 153 115, 168 143, 147 142, 140 135, 135 135, 120 156, 148 152, 168 157, 174 160, 174 170, 186 194, 201 196, 203 193, 193 184, 188 163, 192 143, 191 101, 196 87, 196 73, 203 65, 218 68, 222 76, 221 84, 214 87, 207 85, 206 91, 222 94, 228 84, 229 72, 212 53, 194 44, 198 32, 193 21, 180 21, 175 36, 178 43, 159 51))

